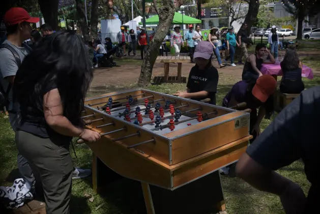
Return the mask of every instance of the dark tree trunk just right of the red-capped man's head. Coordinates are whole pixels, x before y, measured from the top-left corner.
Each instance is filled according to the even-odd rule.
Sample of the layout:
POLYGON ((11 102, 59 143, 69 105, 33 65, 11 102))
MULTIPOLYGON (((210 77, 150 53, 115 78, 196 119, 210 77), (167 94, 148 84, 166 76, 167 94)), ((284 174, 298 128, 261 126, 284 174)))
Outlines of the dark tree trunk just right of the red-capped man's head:
POLYGON ((38 0, 45 23, 55 31, 58 30, 58 3, 59 0, 38 0))

